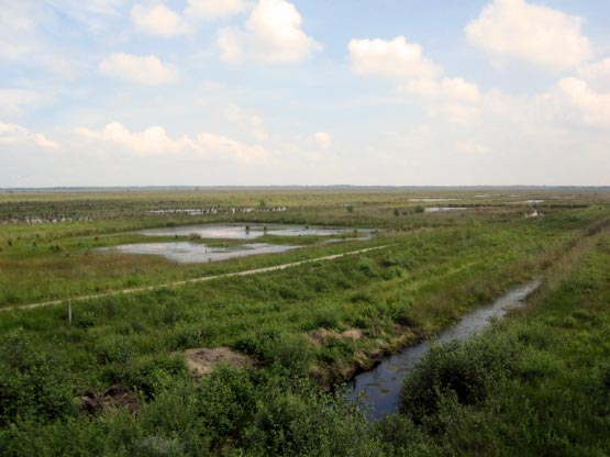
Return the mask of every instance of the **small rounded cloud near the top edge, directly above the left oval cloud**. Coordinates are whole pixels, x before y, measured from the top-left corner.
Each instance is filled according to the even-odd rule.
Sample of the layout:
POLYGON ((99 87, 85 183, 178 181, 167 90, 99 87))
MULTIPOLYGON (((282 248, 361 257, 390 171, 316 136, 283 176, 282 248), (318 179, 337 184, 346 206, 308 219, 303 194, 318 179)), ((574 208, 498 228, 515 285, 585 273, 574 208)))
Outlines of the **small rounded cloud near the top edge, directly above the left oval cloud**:
POLYGON ((137 31, 149 35, 167 38, 189 32, 189 26, 180 14, 164 4, 136 4, 131 9, 131 19, 137 31))

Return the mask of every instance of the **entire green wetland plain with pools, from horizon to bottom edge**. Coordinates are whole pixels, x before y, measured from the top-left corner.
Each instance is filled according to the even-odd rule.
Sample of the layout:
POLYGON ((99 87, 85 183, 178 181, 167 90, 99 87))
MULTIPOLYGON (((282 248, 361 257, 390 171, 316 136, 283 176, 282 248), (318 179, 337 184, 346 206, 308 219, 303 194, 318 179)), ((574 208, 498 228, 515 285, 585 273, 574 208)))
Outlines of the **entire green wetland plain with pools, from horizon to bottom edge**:
POLYGON ((610 454, 610 190, 0 190, 3 456, 610 454))

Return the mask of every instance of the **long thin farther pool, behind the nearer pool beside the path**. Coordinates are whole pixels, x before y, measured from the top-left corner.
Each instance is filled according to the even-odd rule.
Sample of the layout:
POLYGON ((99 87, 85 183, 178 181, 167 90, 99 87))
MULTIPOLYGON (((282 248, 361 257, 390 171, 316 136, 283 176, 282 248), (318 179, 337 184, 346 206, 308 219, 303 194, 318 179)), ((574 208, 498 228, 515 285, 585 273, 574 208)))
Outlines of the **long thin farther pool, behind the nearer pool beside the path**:
MULTIPOLYGON (((280 225, 280 224, 206 224, 187 225, 179 227, 152 228, 137 232, 149 236, 188 236, 198 234, 202 238, 224 239, 253 239, 264 235, 276 236, 336 236, 354 234, 354 228, 324 227, 307 225, 280 225), (248 227, 246 230, 246 227, 248 227), (266 230, 265 230, 266 228, 266 230)), ((359 228, 358 233, 369 235, 370 230, 359 228)))

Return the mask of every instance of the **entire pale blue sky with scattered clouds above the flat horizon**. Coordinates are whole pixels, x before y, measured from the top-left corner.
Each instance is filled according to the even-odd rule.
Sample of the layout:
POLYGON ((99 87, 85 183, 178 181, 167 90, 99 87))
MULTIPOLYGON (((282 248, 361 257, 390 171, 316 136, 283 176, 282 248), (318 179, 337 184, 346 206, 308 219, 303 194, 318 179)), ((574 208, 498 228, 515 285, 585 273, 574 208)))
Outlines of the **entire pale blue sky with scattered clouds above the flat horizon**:
POLYGON ((608 186, 607 0, 0 0, 0 188, 608 186))

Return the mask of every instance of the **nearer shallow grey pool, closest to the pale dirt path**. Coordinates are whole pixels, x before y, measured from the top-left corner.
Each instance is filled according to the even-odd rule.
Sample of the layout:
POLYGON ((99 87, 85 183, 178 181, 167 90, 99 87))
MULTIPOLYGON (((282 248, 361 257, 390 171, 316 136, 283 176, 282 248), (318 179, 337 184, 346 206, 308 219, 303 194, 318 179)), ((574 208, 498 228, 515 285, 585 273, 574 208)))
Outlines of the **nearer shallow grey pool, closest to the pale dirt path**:
POLYGON ((200 264, 204 261, 226 260, 257 254, 277 254, 293 249, 297 246, 252 243, 233 247, 211 247, 201 243, 137 243, 117 246, 115 249, 125 254, 148 254, 168 258, 180 264, 200 264))

